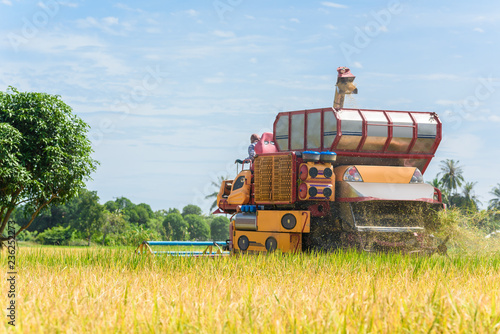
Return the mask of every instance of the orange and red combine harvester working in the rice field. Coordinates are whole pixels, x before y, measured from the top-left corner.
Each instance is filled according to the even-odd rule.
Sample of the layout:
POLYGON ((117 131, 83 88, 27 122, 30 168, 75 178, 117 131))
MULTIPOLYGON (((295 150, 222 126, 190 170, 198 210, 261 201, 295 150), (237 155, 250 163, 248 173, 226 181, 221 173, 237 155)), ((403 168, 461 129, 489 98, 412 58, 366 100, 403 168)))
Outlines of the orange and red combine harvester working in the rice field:
POLYGON ((333 108, 279 113, 254 161, 223 181, 217 212, 233 215, 230 251, 444 252, 431 234, 441 193, 423 182, 439 117, 344 108, 358 90, 348 68, 337 71, 333 108))

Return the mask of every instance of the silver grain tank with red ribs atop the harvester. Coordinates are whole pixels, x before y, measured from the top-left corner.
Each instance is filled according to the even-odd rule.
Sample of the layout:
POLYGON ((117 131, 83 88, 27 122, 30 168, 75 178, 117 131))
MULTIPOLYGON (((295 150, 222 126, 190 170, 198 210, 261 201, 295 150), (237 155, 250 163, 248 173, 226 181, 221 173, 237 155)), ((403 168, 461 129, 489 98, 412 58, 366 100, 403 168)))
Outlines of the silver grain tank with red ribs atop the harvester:
MULTIPOLYGON (((317 135, 309 137, 317 138, 317 135)), ((441 121, 432 112, 323 108, 282 112, 274 122, 278 151, 292 151, 293 143, 303 142, 303 148, 294 151, 334 151, 338 164, 414 166, 424 172, 441 138, 441 121), (311 113, 321 114, 321 117, 311 117, 317 124, 308 123, 311 113), (325 115, 331 118, 332 114, 336 124, 329 124, 330 128, 325 129, 325 115), (298 133, 291 131, 295 115, 301 115, 300 120, 297 117, 297 124, 304 122, 299 126, 303 131, 298 133), (285 117, 285 123, 279 122, 281 117, 285 117), (308 145, 307 132, 311 129, 320 133, 320 147, 308 145), (335 139, 331 146, 325 147, 325 138, 331 138, 328 136, 335 139), (280 147, 280 143, 287 147, 280 147)))

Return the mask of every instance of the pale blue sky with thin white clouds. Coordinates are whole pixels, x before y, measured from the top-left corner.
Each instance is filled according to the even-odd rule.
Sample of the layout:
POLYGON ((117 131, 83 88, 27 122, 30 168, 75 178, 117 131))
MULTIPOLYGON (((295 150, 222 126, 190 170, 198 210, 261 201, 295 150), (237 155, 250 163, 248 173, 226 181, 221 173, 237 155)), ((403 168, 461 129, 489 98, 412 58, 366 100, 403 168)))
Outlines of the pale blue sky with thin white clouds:
POLYGON ((278 112, 332 105, 437 112, 425 173, 460 160, 483 203, 500 182, 500 3, 0 0, 0 89, 61 95, 92 127, 101 202, 194 203, 234 176, 278 112))

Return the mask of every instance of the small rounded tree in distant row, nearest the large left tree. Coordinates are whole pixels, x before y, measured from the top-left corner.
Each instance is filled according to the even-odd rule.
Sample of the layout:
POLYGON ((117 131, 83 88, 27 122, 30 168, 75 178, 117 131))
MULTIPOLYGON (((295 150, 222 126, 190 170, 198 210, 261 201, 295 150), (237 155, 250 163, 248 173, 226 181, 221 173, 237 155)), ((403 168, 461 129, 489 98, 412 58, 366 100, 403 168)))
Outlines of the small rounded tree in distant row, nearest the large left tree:
POLYGON ((77 198, 78 209, 71 226, 88 240, 99 232, 105 223, 104 207, 99 204, 97 192, 83 189, 77 198))

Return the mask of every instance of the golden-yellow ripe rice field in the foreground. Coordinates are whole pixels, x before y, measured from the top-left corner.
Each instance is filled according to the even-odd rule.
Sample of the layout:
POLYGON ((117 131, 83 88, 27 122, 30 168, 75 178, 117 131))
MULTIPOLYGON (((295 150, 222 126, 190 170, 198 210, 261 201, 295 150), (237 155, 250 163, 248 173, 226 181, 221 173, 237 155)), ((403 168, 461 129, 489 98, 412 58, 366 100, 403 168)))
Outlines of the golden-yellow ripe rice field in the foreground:
POLYGON ((3 318, 1 332, 500 333, 498 253, 210 259, 21 247, 17 272, 16 327, 3 318))

